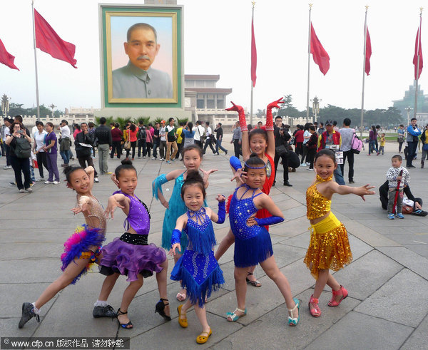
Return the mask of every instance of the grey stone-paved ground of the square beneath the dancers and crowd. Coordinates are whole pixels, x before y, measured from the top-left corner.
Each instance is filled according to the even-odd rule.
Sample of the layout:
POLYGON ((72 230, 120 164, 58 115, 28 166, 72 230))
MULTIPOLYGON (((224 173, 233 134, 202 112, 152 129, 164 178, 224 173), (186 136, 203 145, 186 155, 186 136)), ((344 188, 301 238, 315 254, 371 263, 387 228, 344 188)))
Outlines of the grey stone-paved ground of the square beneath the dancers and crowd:
MULTIPOLYGON (((226 141, 227 138, 224 145, 232 153, 232 146, 226 141)), ((387 153, 378 157, 367 157, 364 152, 356 156, 355 185, 371 183, 379 187, 384 182, 397 144, 389 143, 386 149, 387 153)), ((153 314, 158 301, 154 278, 145 280, 131 304, 129 312, 134 324, 131 331, 118 329, 117 322, 111 319, 93 319, 93 302, 103 281, 98 273, 88 274, 46 304, 41 323, 32 319, 24 329, 18 329, 21 303, 33 302, 58 277, 63 242, 82 222, 82 217, 73 217, 70 208, 75 197, 64 182, 61 185, 37 182, 33 194, 19 194, 16 187, 9 185, 14 180, 13 171, 3 170, 4 163, 5 158, 0 158, 0 336, 130 336, 131 349, 196 348, 200 325, 195 313, 188 313, 188 329, 181 329, 177 322, 177 282, 168 281, 173 320, 165 322, 153 314)), ((109 161, 110 170, 118 163, 116 159, 109 161)), ((420 160, 414 164, 419 167, 420 160)), ((153 218, 149 240, 159 245, 164 209, 151 199, 150 184, 159 174, 183 165, 148 159, 136 159, 135 165, 139 176, 137 194, 150 206, 153 218)), ((219 170, 211 175, 208 188, 208 202, 215 205, 217 193, 233 191, 233 183, 228 180, 228 156, 213 156, 208 150, 203 168, 219 170)), ((427 172, 428 169, 410 170, 412 192, 424 200, 428 200, 427 172)), ((277 183, 282 184, 282 170, 278 176, 277 183)), ((260 267, 256 274, 263 287, 248 287, 248 315, 235 323, 225 320, 225 313, 233 311, 236 305, 233 249, 229 249, 220 259, 226 284, 206 305, 213 335, 200 348, 427 349, 428 217, 387 220, 378 195, 367 197, 366 202, 354 195, 335 195, 332 210, 347 227, 354 255, 354 261, 336 272, 335 277, 350 295, 340 307, 330 308, 327 301, 331 294, 325 292, 320 298, 322 316, 319 319, 310 316, 307 301, 314 280, 302 260, 310 238, 305 190, 313 176, 306 168, 299 168, 290 173, 293 187, 278 185, 271 192, 286 218, 270 230, 275 259, 289 279, 292 293, 303 301, 300 324, 295 328, 287 326, 285 302, 260 267)), ((105 205, 115 187, 108 176, 100 179, 93 192, 105 205)), ((169 196, 173 184, 164 189, 169 196)), ((123 214, 116 212, 115 219, 108 222, 107 242, 121 235, 122 224, 123 214)), ((215 229, 220 241, 228 232, 228 225, 215 225, 215 229)), ((170 260, 169 270, 172 267, 170 260)), ((126 278, 118 279, 109 299, 113 307, 120 305, 126 286, 126 278)))

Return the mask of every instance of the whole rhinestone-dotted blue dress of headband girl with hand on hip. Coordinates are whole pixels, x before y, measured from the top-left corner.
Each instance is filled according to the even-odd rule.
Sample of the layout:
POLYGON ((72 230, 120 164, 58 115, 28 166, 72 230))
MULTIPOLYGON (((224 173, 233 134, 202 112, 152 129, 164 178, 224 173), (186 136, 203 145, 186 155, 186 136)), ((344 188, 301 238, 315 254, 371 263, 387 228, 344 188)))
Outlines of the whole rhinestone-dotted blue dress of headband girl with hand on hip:
MULTIPOLYGON (((241 185, 243 187, 246 185, 241 185)), ((258 212, 254 205, 253 199, 258 195, 254 195, 257 189, 253 189, 253 195, 248 198, 238 199, 237 187, 230 200, 229 220, 230 228, 235 236, 235 254, 233 260, 236 267, 255 266, 259 262, 264 262, 265 259, 273 255, 272 242, 269 232, 265 227, 258 225, 248 227, 248 217, 258 212)), ((251 187, 248 187, 250 189, 251 187)), ((245 191, 247 192, 247 191, 245 191)), ((243 195, 245 195, 245 192, 243 195)))

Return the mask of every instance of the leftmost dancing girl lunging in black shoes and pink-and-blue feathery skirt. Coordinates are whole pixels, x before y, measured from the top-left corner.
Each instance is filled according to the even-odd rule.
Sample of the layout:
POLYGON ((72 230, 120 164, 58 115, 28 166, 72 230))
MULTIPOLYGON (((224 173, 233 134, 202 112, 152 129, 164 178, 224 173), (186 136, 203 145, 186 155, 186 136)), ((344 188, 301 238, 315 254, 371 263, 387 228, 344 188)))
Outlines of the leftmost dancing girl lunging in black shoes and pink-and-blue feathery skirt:
POLYGON ((76 229, 76 232, 64 243, 64 252, 61 255, 63 274, 52 282, 34 303, 22 304, 22 316, 19 328, 36 316, 40 321, 40 309, 58 292, 75 284, 78 279, 88 272, 93 262, 98 263, 99 249, 106 233, 106 217, 103 207, 92 194, 93 168, 66 167, 67 187, 76 191, 76 207, 71 211, 76 215, 79 212, 85 217, 86 225, 76 229))

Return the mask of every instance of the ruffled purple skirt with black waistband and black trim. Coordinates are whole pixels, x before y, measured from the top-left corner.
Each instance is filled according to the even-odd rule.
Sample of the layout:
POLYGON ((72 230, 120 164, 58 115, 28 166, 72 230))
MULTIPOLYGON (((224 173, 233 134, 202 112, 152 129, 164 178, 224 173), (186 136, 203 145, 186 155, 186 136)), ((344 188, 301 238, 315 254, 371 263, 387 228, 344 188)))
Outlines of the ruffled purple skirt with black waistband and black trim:
POLYGON ((143 277, 161 272, 161 264, 166 259, 165 251, 153 243, 148 245, 147 235, 136 235, 125 232, 120 238, 116 237, 101 250, 101 274, 113 273, 128 276, 126 281, 138 280, 138 274, 143 277))

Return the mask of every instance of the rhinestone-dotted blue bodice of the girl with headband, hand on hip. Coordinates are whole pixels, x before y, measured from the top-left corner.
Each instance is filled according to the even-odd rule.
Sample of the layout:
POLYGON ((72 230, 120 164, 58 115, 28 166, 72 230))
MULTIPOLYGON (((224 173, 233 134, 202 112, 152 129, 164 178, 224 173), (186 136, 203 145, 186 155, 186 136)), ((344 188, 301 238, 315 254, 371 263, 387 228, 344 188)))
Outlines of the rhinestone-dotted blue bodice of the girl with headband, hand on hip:
MULTIPOLYGON (((241 185, 240 187, 247 186, 241 185)), ((233 235, 240 240, 246 240, 248 238, 258 235, 260 230, 265 230, 264 227, 254 225, 251 227, 247 226, 248 217, 253 215, 258 209, 254 205, 254 198, 258 195, 261 195, 263 192, 254 195, 255 191, 258 189, 253 189, 247 187, 247 190, 253 190, 253 195, 248 198, 242 198, 245 195, 245 191, 240 199, 237 197, 238 189, 236 188, 235 193, 233 193, 232 200, 230 200, 230 209, 229 209, 229 220, 230 228, 232 229, 233 235)))

